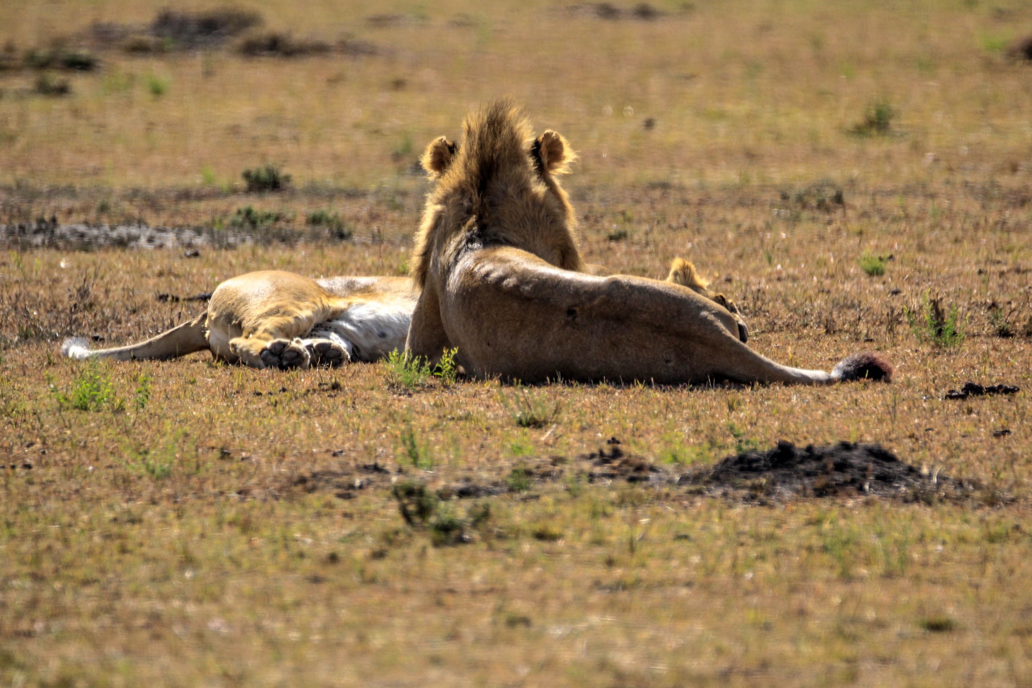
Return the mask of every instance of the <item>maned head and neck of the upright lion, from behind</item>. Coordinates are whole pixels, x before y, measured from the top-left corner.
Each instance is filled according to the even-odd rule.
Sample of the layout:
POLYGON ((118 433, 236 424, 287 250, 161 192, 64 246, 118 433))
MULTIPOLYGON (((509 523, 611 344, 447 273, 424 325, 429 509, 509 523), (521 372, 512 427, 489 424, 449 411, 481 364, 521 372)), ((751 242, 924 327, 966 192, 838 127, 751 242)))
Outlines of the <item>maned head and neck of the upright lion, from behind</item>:
POLYGON ((422 164, 436 183, 416 234, 413 275, 424 287, 433 261, 465 248, 512 245, 570 270, 581 269, 577 222, 558 176, 575 159, 554 131, 535 138, 509 100, 466 117, 459 143, 440 137, 422 164))

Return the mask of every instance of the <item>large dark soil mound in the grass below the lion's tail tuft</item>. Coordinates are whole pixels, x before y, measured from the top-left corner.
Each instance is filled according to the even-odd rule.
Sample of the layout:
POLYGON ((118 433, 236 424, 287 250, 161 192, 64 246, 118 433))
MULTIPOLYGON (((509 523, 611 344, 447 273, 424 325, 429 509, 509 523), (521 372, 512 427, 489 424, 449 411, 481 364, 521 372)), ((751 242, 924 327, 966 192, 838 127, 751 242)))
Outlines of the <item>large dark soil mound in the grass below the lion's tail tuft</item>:
POLYGON ((941 473, 926 474, 879 445, 848 441, 806 448, 779 441, 766 452, 729 456, 682 482, 685 478, 705 492, 746 501, 834 495, 935 501, 971 490, 941 473))

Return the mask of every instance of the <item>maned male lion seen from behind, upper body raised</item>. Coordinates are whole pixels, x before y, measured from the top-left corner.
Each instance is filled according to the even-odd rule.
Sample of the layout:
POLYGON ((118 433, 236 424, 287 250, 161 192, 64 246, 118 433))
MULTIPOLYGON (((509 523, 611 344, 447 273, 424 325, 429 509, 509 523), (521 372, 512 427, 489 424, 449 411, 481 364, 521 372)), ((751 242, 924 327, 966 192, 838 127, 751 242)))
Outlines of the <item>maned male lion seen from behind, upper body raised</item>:
POLYGON ((436 182, 416 237, 421 288, 407 349, 431 361, 457 348, 469 374, 548 379, 826 384, 888 380, 872 354, 831 372, 775 363, 751 351, 727 307, 671 282, 585 273, 576 220, 557 175, 562 136, 538 138, 508 100, 441 137, 423 166, 436 182))

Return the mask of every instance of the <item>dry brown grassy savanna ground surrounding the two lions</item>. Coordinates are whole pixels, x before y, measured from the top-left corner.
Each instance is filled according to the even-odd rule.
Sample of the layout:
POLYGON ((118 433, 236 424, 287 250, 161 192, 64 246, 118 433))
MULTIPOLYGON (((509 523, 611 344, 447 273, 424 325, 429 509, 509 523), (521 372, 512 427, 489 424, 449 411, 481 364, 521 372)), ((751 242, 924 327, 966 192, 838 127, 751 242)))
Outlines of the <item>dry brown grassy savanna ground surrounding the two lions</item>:
POLYGON ((263 24, 191 42, 156 2, 0 2, 0 682, 1032 682, 1032 64, 1007 56, 1032 7, 239 8, 263 24), (589 260, 686 255, 762 353, 873 349, 896 381, 59 357, 248 270, 404 273, 416 157, 504 94, 579 151, 589 260), (263 165, 289 188, 249 193, 263 165), (89 250, 108 225, 158 248, 89 250), (967 381, 1022 391, 943 398, 967 381), (585 458, 612 436, 652 480, 585 458), (677 482, 778 439, 975 487, 755 505, 677 482))

